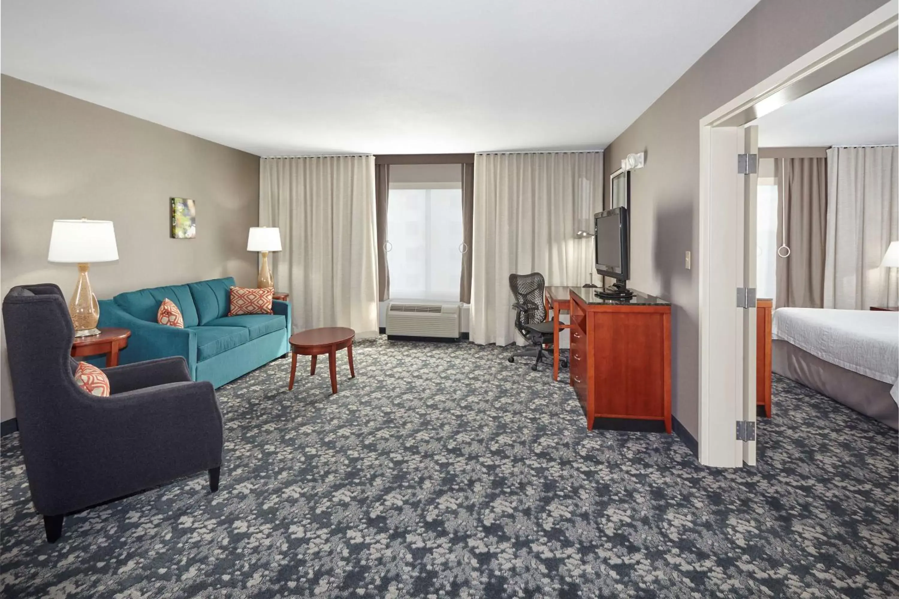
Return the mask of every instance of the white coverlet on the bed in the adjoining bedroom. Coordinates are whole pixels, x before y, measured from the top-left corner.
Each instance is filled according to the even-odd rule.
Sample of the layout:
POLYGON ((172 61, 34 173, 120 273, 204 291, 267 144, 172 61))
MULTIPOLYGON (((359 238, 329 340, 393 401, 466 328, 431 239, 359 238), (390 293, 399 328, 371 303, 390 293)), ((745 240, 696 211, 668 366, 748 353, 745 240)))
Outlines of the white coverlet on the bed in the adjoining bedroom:
POLYGON ((891 383, 899 404, 899 312, 779 308, 771 336, 825 362, 891 383))

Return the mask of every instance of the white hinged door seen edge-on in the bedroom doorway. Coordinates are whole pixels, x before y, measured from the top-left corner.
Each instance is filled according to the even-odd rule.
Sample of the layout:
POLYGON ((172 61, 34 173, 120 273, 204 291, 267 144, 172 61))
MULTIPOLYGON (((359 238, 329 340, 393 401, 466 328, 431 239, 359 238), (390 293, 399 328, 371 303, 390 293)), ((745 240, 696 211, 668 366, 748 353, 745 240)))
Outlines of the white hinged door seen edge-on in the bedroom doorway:
POLYGON ((749 174, 740 175, 743 177, 743 193, 741 201, 743 206, 737 207, 737 218, 742 222, 737 226, 737 231, 742 232, 743 239, 739 240, 742 244, 743 253, 743 283, 742 286, 749 290, 750 300, 747 302, 750 307, 743 308, 740 319, 742 324, 742 361, 743 361, 743 384, 742 392, 739 394, 739 406, 736 410, 738 415, 745 422, 744 430, 749 433, 748 438, 741 442, 743 445, 741 450, 743 454, 743 462, 747 465, 755 465, 755 438, 757 430, 755 427, 756 414, 756 307, 755 307, 755 262, 756 262, 756 200, 759 184, 758 175, 758 154, 759 154, 759 128, 746 127, 743 128, 743 154, 747 156, 756 156, 754 169, 749 169, 749 174))

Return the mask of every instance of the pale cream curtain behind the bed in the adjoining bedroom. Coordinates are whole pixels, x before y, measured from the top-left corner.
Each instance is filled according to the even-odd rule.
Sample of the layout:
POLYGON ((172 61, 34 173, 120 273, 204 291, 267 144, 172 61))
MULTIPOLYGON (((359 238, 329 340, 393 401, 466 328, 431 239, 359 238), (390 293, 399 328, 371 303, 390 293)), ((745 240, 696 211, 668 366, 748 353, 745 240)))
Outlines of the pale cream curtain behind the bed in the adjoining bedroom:
POLYGON ((899 304, 897 269, 881 268, 899 240, 899 148, 827 151, 827 248, 824 307, 868 310, 899 304))

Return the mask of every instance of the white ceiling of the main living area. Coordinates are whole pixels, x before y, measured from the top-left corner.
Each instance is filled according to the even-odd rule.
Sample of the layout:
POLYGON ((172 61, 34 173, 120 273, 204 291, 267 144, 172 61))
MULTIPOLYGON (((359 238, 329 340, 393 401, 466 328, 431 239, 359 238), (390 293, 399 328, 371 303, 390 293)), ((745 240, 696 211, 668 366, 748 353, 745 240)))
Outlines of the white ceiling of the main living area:
POLYGON ((261 155, 599 149, 758 0, 4 0, 0 70, 261 155))

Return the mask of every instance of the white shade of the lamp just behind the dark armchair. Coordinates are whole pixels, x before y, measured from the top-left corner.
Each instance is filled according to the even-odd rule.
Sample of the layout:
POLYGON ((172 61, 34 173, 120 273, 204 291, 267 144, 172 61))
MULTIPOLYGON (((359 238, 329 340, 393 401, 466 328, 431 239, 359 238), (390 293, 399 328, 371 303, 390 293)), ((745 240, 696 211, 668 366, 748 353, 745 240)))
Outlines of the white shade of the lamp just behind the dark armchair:
POLYGON ((108 220, 55 220, 50 232, 50 262, 119 260, 115 230, 108 220))

